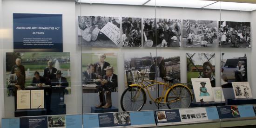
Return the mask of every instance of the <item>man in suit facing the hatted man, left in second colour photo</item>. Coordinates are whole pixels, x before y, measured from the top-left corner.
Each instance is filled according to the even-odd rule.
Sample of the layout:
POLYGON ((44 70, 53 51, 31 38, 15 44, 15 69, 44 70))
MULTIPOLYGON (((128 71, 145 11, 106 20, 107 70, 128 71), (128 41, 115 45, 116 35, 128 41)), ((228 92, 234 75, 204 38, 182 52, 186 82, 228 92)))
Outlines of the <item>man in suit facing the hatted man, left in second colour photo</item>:
POLYGON ((94 64, 88 64, 87 70, 82 73, 82 84, 94 83, 96 78, 96 74, 94 73, 94 64))

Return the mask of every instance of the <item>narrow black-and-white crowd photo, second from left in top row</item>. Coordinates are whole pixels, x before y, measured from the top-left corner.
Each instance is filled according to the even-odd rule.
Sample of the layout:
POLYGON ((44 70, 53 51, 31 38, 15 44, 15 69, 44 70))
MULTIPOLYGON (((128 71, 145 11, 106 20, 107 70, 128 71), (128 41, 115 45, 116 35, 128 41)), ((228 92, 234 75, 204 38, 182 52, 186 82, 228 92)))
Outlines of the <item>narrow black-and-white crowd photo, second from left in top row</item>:
POLYGON ((123 47, 141 47, 141 18, 122 17, 123 47))

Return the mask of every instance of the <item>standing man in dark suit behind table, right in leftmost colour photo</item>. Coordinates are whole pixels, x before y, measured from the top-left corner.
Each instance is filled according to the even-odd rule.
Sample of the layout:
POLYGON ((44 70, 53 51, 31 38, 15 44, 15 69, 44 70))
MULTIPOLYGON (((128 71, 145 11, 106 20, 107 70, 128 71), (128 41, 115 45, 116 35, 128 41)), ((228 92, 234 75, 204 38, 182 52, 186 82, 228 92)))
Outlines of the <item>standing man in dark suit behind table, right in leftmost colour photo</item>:
POLYGON ((49 85, 51 83, 51 80, 55 78, 55 74, 57 69, 53 67, 53 61, 48 61, 48 67, 44 69, 44 78, 45 78, 45 84, 49 85))

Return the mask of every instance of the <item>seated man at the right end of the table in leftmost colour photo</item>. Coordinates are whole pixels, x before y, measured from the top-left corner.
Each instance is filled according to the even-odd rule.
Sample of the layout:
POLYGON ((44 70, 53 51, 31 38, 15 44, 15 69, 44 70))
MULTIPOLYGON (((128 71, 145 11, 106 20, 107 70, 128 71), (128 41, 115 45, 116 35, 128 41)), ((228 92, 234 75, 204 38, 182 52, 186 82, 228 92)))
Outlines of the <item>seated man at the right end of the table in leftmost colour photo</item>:
POLYGON ((56 77, 52 79, 51 85, 54 87, 67 87, 67 78, 61 77, 63 73, 61 73, 61 70, 56 71, 56 77))

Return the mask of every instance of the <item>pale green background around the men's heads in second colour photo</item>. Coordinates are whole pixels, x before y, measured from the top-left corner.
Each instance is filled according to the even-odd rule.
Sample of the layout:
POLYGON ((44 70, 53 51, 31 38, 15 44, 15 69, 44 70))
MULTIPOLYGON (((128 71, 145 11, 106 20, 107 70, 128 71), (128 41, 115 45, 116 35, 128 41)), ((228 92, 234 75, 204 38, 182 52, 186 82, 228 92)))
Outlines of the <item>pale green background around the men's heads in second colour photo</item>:
MULTIPOLYGON (((82 71, 87 70, 87 64, 94 64, 99 61, 98 54, 94 53, 82 53, 82 71)), ((117 56, 106 55, 106 62, 114 66, 115 74, 117 74, 117 56)))

